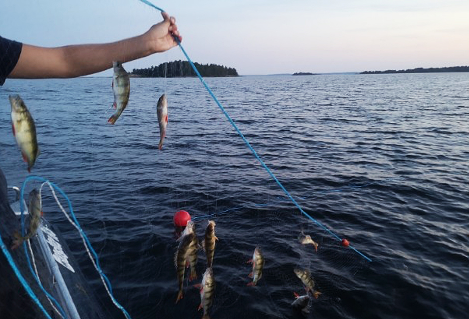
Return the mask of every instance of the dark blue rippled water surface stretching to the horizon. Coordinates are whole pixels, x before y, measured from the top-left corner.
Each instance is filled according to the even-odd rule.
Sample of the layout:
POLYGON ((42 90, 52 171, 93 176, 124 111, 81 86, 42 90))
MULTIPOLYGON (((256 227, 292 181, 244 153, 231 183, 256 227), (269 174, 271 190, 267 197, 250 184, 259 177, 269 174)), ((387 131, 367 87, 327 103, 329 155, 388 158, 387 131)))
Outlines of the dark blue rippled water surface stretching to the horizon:
MULTIPOLYGON (((193 283, 186 280, 184 299, 174 303, 172 216, 180 209, 201 217, 200 236, 203 216, 217 222, 214 319, 301 318, 290 308, 293 292, 302 293, 295 267, 310 269, 322 292, 310 318, 467 318, 468 73, 207 82, 302 208, 373 261, 286 200, 197 79, 131 79, 115 126, 106 123, 110 78, 6 81, 0 167, 9 184, 27 176, 7 99, 19 94, 41 149, 32 173, 67 192, 133 319, 202 317, 193 283), (156 102, 165 91, 168 138, 159 151, 156 102), (298 243, 301 229, 319 242, 317 253, 298 243), (256 245, 264 275, 246 287, 256 245)), ((48 194, 44 211, 105 297, 78 234, 48 194)), ((196 282, 204 270, 201 251, 196 282)))

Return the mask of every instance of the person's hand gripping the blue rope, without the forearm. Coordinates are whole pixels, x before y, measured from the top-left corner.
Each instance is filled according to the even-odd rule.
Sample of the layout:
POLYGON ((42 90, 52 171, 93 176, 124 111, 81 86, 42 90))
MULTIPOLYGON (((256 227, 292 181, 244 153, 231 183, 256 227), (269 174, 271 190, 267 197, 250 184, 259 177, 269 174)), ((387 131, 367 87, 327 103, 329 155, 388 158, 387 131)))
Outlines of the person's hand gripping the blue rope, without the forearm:
POLYGON ((169 16, 166 12, 161 12, 163 21, 153 25, 150 30, 145 33, 148 38, 150 49, 153 53, 164 52, 178 45, 176 38, 182 41, 182 36, 179 34, 178 26, 176 25, 176 18, 169 16))

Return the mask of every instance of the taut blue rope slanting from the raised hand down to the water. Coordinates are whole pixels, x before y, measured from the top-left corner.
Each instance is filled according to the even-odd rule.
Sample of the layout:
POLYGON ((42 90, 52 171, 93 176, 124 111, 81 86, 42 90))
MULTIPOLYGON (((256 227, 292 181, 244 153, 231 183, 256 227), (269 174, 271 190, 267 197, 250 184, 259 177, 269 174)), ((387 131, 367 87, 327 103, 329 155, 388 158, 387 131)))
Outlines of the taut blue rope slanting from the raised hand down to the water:
MULTIPOLYGON (((164 12, 163 9, 157 7, 156 5, 152 4, 151 2, 147 1, 147 0, 139 0, 139 1, 142 1, 143 3, 153 7, 153 8, 156 8, 157 10, 160 10, 161 12, 164 12)), ((267 167, 267 165, 264 163, 263 160, 260 159, 259 155, 257 155, 257 152, 254 150, 254 148, 252 148, 252 146, 249 144, 249 142, 246 140, 246 138, 244 137, 244 135, 241 133, 241 131, 239 130, 239 128, 236 126, 236 124, 234 123, 234 121, 232 120, 232 118, 230 117, 230 115, 228 114, 228 112, 225 110, 225 108, 222 106, 222 104, 220 103, 220 101, 218 100, 218 98, 215 96, 215 94, 212 92, 212 90, 210 89, 210 87, 207 85, 207 83, 205 82, 204 78, 202 77, 202 75, 199 73, 199 70, 197 70, 196 66, 194 65, 194 63, 192 62, 191 58, 189 57, 189 55, 186 53, 186 50, 184 50, 183 46, 181 45, 181 41, 179 41, 179 39, 177 37, 174 37, 174 39, 176 40, 176 42, 178 43, 179 47, 181 48, 181 51, 184 53, 184 55, 186 56, 187 60, 189 61, 189 63, 191 64, 192 68, 194 69, 194 72, 196 72, 197 76, 199 77, 199 80, 202 82, 202 84, 205 86, 205 88, 207 89, 207 91, 210 93, 210 95, 212 96, 212 98, 214 99, 215 103, 217 103, 218 107, 220 108, 220 110, 222 110, 223 114, 225 114, 225 117, 228 119, 228 121, 231 123, 231 125, 233 126, 234 130, 236 130, 237 134, 241 137, 241 139, 244 141, 244 143, 247 145, 247 147, 249 148, 249 150, 252 152, 252 154, 254 155, 254 157, 259 161, 259 163, 262 165, 262 167, 264 167, 264 169, 267 171, 267 173, 270 175, 270 177, 272 177, 272 179, 278 184, 278 186, 280 186, 280 188, 283 190, 283 192, 285 193, 285 195, 287 195, 288 198, 290 198, 291 202, 299 209, 299 211, 305 215, 306 217, 308 217, 309 219, 311 219, 313 222, 315 222, 318 226, 320 226, 321 228, 323 228, 325 231, 327 231, 329 234, 331 234, 333 237, 335 237, 337 240, 339 241, 342 241, 342 239, 337 236, 336 234, 334 234, 332 231, 330 231, 327 227, 325 227, 323 224, 321 224, 318 220, 314 219, 313 217, 311 217, 308 213, 306 213, 303 208, 301 208, 301 206, 296 202, 296 200, 290 195, 290 193, 288 192, 288 190, 286 190, 286 188, 283 186, 283 184, 277 179, 277 177, 272 173, 272 171, 270 170, 270 168, 267 167)), ((352 248, 353 250, 355 250, 356 252, 358 252, 362 257, 364 257, 366 260, 370 261, 371 262, 371 259, 366 257, 365 255, 363 255, 362 253, 360 253, 358 250, 356 250, 355 248, 353 248, 352 246, 349 246, 350 248, 352 248)))

